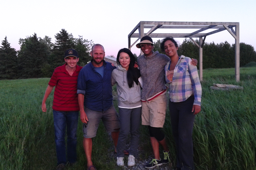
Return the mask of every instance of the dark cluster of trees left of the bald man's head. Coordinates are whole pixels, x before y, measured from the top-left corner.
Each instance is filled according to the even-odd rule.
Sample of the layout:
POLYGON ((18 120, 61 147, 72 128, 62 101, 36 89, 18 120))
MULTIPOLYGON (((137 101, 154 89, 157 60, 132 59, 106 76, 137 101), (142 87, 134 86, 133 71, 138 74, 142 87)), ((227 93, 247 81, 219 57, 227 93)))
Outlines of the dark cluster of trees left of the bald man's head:
POLYGON ((54 69, 65 63, 63 58, 67 49, 78 52, 78 65, 84 66, 90 61, 92 40, 80 35, 74 38, 65 29, 61 29, 55 38, 55 43, 52 43, 50 37, 41 38, 34 33, 25 39, 20 38, 20 50, 16 51, 5 37, 0 46, 0 79, 51 77, 54 69))

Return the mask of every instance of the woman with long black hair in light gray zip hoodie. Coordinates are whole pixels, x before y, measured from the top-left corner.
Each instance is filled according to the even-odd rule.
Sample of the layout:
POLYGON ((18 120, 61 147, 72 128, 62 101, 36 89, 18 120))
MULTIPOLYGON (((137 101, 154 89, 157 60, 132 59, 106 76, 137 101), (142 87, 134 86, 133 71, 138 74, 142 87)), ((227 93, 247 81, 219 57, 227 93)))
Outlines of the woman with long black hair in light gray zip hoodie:
POLYGON ((124 166, 124 148, 131 131, 131 144, 128 166, 135 165, 135 154, 139 143, 141 119, 141 87, 138 78, 140 71, 134 68, 135 57, 132 52, 123 48, 118 51, 117 68, 112 72, 112 86, 117 84, 120 133, 117 142, 117 166, 124 166))

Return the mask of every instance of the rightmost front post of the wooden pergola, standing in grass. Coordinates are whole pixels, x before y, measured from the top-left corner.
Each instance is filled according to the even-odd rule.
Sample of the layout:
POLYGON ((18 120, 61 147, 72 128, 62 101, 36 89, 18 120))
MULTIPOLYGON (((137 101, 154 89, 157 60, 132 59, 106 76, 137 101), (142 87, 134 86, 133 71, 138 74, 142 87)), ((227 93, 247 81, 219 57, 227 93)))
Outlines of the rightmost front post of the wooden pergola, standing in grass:
POLYGON ((236 81, 240 81, 240 43, 239 43, 239 23, 235 27, 236 29, 236 39, 235 39, 235 75, 236 75, 236 81))

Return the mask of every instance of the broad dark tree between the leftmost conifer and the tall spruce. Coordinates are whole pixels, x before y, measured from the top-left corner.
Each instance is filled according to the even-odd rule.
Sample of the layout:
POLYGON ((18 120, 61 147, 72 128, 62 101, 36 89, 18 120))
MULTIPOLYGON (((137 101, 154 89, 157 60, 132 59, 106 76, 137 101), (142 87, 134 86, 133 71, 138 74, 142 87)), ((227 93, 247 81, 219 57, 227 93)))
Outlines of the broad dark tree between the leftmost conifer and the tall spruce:
POLYGON ((19 78, 42 77, 41 67, 47 61, 48 47, 39 41, 37 34, 20 39, 20 50, 18 51, 19 78))

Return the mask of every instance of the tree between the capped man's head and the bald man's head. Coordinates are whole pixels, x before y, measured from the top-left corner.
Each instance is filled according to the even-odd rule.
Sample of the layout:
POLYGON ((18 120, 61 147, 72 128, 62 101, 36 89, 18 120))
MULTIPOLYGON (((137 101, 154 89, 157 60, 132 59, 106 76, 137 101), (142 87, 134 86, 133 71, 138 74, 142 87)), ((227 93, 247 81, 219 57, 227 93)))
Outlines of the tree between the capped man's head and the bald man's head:
POLYGON ((79 55, 78 65, 84 66, 91 60, 90 50, 94 45, 92 40, 83 39, 83 36, 79 35, 79 38, 74 39, 75 50, 79 55))

